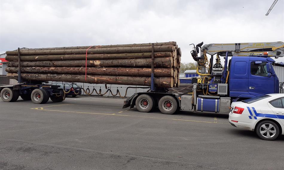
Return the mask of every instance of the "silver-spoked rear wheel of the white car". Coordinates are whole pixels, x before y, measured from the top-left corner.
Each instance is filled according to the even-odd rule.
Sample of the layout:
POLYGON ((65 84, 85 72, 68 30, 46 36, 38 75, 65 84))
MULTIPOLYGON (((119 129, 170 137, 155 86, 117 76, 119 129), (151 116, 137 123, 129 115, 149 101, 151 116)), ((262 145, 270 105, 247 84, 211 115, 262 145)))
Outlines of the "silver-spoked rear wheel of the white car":
POLYGON ((279 132, 279 126, 271 120, 265 120, 256 126, 256 134, 263 140, 274 140, 279 132))

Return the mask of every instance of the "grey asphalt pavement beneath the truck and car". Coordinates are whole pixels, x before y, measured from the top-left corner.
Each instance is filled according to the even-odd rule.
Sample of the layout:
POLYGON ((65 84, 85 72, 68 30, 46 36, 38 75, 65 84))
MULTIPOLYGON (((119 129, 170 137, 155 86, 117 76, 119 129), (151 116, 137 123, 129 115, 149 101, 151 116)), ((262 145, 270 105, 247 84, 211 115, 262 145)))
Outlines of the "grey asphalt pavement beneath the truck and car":
POLYGON ((124 99, 0 101, 0 169, 284 169, 284 137, 227 114, 122 109, 124 99))

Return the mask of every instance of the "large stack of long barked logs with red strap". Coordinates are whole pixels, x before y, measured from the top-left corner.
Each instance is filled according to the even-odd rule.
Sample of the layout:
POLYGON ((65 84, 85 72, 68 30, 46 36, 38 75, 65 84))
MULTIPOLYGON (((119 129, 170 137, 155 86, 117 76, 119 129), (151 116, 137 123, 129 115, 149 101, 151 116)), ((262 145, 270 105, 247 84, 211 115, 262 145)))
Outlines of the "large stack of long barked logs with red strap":
MULTIPOLYGON (((34 48, 19 53, 25 81, 151 85, 152 43, 34 48)), ((7 77, 18 79, 18 51, 6 54, 7 77)), ((176 42, 154 43, 156 87, 179 86, 180 61, 176 42)))

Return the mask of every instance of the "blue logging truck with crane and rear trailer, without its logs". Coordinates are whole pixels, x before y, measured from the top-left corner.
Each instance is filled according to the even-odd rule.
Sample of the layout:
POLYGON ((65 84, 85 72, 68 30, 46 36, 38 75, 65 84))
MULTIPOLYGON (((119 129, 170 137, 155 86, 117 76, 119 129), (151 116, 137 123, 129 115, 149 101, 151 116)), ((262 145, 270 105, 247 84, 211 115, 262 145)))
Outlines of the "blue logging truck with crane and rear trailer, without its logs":
MULTIPOLYGON (((191 55, 198 64, 196 71, 200 75, 200 78, 192 79, 192 90, 184 93, 172 88, 173 91, 170 92, 169 88, 155 87, 152 51, 150 90, 132 95, 124 101, 123 108, 136 106, 139 112, 150 112, 158 107, 163 114, 173 114, 177 110, 229 113, 230 104, 234 101, 270 93, 284 93, 284 83, 279 86, 279 79, 272 66, 275 61, 271 58, 284 56, 283 42, 204 46, 202 42, 196 46, 191 45, 193 45, 191 55), (198 55, 199 50, 200 55, 198 55), (207 54, 211 55, 210 59, 207 54), (213 64, 215 55, 216 62, 213 64), (223 65, 221 57, 225 59, 223 65)), ((21 78, 20 64, 18 75, 16 77, 21 78)), ((19 96, 39 104, 46 103, 49 98, 54 102, 64 100, 62 89, 42 84, 40 81, 33 81, 32 84, 0 86, 0 90, 1 99, 6 102, 16 101, 19 96)))

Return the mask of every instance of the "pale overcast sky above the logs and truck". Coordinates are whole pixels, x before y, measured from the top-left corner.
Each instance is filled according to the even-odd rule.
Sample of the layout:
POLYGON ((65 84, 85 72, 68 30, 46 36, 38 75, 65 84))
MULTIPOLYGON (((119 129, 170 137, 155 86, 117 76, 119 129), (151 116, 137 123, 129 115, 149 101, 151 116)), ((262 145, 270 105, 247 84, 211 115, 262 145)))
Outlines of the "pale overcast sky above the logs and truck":
MULTIPOLYGON (((0 0, 0 54, 18 47, 284 41, 284 0, 0 0)), ((283 61, 284 57, 277 62, 283 61)))

